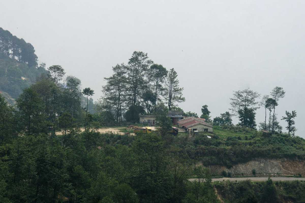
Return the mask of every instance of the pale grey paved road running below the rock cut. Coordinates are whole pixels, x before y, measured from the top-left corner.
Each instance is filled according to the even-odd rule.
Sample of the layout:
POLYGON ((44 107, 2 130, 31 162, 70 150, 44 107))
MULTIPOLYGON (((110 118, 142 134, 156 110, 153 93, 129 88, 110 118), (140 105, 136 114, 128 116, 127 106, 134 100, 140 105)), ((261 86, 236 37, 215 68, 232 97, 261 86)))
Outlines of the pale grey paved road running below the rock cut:
MULTIPOLYGON (((296 177, 271 177, 272 181, 305 181, 305 178, 296 178, 296 177)), ((196 181, 196 178, 190 178, 189 181, 196 181)), ((240 177, 240 178, 213 178, 212 182, 215 181, 267 181, 268 177, 240 177)))

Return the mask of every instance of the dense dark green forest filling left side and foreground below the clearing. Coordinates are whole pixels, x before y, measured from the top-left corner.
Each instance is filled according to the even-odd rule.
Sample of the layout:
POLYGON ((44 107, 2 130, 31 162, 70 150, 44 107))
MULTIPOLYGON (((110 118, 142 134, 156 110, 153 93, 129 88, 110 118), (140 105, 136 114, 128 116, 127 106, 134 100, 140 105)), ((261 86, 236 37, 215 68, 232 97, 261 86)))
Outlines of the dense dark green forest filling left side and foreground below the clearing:
POLYGON ((1 202, 217 202, 210 179, 188 183, 193 161, 172 136, 100 134, 87 124, 77 84, 41 78, 15 109, 0 97, 1 202))

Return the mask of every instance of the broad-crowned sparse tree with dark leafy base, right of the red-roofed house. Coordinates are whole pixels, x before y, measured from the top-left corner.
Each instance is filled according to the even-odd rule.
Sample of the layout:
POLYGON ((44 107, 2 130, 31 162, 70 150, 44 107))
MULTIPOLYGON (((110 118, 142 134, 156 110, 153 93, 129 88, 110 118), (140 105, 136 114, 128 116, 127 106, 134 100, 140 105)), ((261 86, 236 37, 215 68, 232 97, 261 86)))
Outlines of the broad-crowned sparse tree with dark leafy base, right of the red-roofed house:
POLYGON ((259 102, 256 100, 259 96, 260 94, 250 89, 234 91, 233 97, 230 98, 230 110, 232 110, 233 115, 236 113, 239 115, 240 121, 242 120, 241 125, 253 126, 255 124, 255 111, 259 108, 256 106, 259 102))

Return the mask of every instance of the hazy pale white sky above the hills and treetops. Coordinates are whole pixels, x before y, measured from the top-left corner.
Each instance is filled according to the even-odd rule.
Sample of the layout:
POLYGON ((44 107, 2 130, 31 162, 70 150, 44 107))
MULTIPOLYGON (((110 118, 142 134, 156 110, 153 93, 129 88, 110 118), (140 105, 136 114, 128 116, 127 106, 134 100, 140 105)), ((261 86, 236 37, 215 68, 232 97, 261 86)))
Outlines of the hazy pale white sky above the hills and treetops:
POLYGON ((0 27, 30 42, 39 63, 80 78, 95 100, 111 67, 143 51, 178 72, 184 111, 200 114, 206 104, 213 118, 228 110, 232 91, 283 87, 278 117, 296 110, 296 134, 305 137, 305 1, 10 0, 0 7, 0 27))

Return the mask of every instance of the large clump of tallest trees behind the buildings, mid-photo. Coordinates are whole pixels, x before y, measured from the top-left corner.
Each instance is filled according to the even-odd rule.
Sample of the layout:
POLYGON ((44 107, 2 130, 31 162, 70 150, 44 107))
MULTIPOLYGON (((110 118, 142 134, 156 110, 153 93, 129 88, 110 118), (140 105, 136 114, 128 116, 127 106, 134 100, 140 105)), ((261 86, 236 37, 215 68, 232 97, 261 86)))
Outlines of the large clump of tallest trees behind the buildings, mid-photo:
POLYGON ((150 60, 147 53, 135 51, 127 64, 117 64, 112 69, 113 75, 104 78, 104 94, 96 105, 118 123, 124 118, 138 122, 139 114, 155 113, 161 102, 171 110, 185 101, 174 68, 167 71, 150 60))

